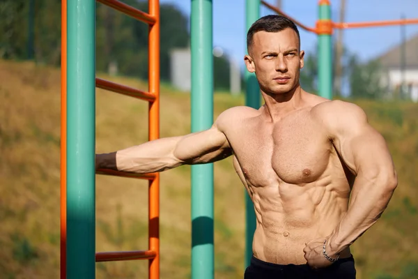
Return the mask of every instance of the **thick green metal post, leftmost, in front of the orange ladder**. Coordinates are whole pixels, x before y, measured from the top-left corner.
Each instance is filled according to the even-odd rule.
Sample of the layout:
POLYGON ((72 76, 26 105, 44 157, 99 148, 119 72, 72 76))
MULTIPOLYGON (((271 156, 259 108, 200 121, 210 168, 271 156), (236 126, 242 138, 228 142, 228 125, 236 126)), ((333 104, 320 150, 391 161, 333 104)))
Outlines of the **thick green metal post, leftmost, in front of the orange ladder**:
POLYGON ((67 278, 95 278, 95 0, 67 18, 67 278))

